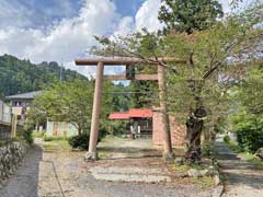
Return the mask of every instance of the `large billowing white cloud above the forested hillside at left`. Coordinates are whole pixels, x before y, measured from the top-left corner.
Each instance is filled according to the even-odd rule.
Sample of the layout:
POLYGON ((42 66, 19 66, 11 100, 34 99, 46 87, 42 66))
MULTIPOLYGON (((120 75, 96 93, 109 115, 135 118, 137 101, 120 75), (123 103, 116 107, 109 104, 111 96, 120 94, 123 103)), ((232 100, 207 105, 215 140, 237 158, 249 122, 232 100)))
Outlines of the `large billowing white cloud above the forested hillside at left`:
MULTIPOLYGON (((85 0, 79 15, 65 19, 45 33, 41 30, 7 27, 0 30, 0 54, 28 58, 33 62, 61 61, 72 66, 72 60, 95 44, 94 35, 113 32, 119 15, 110 0, 85 0)), ((88 73, 88 68, 79 68, 88 73)))

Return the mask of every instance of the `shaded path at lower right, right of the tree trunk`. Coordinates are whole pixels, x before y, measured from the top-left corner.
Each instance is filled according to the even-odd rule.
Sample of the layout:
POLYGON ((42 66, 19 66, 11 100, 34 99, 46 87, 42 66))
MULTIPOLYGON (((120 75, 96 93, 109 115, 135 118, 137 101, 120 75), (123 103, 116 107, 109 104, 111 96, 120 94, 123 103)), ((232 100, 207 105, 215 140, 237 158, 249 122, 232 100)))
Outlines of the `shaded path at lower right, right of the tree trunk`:
POLYGON ((216 142, 218 161, 227 176, 225 197, 263 197, 263 171, 240 159, 222 141, 216 142))

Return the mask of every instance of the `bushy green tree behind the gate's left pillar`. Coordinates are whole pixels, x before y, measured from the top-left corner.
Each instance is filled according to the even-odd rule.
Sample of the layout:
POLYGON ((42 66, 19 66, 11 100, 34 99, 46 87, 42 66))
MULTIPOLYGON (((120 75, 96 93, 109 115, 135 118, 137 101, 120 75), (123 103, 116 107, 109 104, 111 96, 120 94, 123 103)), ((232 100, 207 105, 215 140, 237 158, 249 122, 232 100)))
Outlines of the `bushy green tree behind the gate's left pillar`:
MULTIPOLYGON (((111 111, 111 84, 104 84, 102 123, 111 111)), ((76 126, 79 134, 90 130, 93 103, 93 81, 76 79, 72 82, 57 82, 36 96, 28 118, 43 123, 46 118, 55 121, 68 121, 76 126)))

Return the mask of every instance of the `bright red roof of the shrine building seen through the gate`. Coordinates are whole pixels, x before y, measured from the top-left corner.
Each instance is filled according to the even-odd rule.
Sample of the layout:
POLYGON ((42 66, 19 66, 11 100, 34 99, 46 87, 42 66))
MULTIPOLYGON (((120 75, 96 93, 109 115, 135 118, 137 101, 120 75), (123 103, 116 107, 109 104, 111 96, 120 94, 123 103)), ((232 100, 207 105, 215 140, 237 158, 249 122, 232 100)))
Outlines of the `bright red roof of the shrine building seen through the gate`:
POLYGON ((130 108, 128 112, 115 112, 108 116, 108 119, 129 119, 135 117, 150 118, 153 113, 148 108, 130 108))

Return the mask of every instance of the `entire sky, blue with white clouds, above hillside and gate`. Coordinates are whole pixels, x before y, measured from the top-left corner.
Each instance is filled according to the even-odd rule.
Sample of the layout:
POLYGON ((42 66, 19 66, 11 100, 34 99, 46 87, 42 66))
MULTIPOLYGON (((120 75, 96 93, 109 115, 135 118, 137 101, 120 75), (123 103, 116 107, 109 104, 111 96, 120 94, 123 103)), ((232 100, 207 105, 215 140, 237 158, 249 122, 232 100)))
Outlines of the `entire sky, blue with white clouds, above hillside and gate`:
MULTIPOLYGON (((161 0, 0 0, 0 55, 33 62, 59 61, 83 74, 73 59, 96 45, 93 36, 126 35, 161 28, 161 0)), ((230 0, 220 0, 229 11, 230 0)), ((245 0, 251 2, 252 0, 245 0)), ((110 72, 117 72, 112 69, 110 72)))

